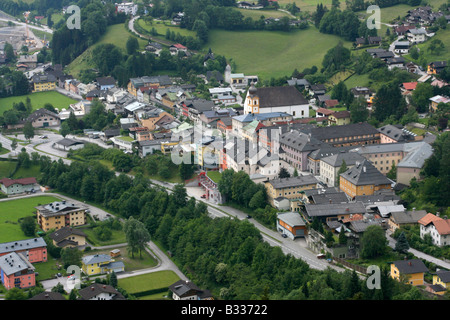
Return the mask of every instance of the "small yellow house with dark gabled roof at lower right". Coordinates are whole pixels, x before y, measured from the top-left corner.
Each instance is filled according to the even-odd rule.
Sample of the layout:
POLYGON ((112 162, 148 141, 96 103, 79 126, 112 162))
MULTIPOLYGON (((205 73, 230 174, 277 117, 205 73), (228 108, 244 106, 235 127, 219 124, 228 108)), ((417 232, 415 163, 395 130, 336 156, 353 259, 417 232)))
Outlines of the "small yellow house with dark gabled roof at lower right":
POLYGON ((424 284, 424 274, 428 268, 420 259, 399 260, 391 263, 391 277, 397 281, 406 281, 413 286, 424 284))

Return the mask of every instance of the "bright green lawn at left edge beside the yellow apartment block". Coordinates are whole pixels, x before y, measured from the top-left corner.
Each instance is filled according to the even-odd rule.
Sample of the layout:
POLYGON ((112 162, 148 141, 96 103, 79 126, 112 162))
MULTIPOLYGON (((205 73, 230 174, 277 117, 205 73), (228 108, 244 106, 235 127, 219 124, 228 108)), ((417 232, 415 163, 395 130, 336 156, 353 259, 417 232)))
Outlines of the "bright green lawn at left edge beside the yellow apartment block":
POLYGON ((25 236, 20 229, 18 220, 34 215, 34 207, 58 201, 52 196, 36 196, 23 199, 15 199, 0 202, 0 243, 14 240, 24 240, 25 236))

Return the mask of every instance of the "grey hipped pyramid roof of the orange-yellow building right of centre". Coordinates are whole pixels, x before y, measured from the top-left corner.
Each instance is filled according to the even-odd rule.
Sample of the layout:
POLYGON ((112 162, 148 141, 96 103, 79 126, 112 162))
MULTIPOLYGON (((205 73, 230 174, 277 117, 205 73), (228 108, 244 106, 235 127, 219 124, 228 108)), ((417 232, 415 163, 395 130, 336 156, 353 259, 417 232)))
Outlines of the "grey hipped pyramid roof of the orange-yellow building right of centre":
POLYGON ((362 185, 383 185, 391 184, 392 181, 386 178, 377 168, 368 160, 364 159, 361 162, 341 173, 341 177, 351 182, 356 186, 362 185))

